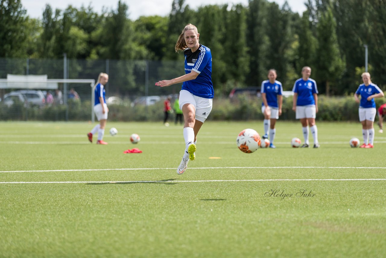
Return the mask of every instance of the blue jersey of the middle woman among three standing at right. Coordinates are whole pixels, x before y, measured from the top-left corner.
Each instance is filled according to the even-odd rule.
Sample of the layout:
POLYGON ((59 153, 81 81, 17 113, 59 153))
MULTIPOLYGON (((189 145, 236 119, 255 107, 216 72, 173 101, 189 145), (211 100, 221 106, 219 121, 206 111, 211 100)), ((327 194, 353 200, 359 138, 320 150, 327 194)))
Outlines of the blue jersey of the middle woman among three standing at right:
POLYGON ((303 78, 300 78, 296 80, 292 91, 298 94, 296 106, 315 106, 313 94, 319 92, 313 79, 303 80, 303 78))

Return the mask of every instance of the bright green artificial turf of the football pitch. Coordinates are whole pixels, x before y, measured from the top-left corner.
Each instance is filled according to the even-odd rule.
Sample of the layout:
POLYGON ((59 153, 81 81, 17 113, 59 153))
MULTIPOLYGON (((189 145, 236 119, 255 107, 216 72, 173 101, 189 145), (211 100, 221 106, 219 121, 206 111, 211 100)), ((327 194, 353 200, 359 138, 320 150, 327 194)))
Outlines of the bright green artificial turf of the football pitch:
POLYGON ((86 137, 94 125, 0 122, 1 257, 386 252, 386 134, 378 128, 374 149, 350 148, 350 138, 362 142, 360 123, 322 122, 319 149, 292 148, 291 138, 303 142, 301 125, 279 120, 276 149, 244 154, 238 133, 262 135, 261 121, 208 121, 196 160, 179 176, 182 126, 108 122, 118 135, 106 130, 108 145, 97 145, 86 137), (132 148, 143 153, 123 153, 132 148))

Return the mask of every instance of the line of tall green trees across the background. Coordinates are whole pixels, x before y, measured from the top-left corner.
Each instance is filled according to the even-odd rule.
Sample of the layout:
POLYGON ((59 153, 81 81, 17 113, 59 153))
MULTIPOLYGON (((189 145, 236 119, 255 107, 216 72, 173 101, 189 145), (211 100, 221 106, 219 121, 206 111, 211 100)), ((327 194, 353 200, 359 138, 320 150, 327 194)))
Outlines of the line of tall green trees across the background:
MULTIPOLYGON (((267 71, 277 70, 291 90, 303 66, 312 68, 320 93, 354 92, 364 72, 368 46, 369 72, 386 87, 386 1, 308 0, 303 14, 288 3, 250 0, 246 6, 206 5, 191 9, 174 0, 168 16, 128 18, 129 6, 97 13, 91 6, 52 10, 41 19, 26 15, 21 0, 1 0, 0 57, 113 60, 180 60, 174 44, 185 24, 198 27, 200 43, 213 56, 217 93, 233 87, 260 85, 267 71)), ((161 78, 160 78, 161 79, 161 78)), ((168 78, 162 78, 168 79, 168 78)))

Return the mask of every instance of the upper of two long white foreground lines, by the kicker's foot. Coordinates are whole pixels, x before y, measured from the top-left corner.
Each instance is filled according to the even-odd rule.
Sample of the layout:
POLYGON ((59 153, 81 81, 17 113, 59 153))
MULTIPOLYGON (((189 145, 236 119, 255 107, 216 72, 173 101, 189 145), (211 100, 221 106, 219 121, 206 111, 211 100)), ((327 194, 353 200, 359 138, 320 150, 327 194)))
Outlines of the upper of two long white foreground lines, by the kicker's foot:
MULTIPOLYGON (((317 169, 386 169, 386 167, 190 167, 190 169, 280 169, 280 168, 317 168, 317 169)), ((139 168, 106 168, 106 169, 55 169, 55 170, 14 170, 0 171, 0 173, 27 173, 27 172, 76 172, 76 171, 135 171, 135 170, 170 170, 175 167, 139 167, 139 168)))

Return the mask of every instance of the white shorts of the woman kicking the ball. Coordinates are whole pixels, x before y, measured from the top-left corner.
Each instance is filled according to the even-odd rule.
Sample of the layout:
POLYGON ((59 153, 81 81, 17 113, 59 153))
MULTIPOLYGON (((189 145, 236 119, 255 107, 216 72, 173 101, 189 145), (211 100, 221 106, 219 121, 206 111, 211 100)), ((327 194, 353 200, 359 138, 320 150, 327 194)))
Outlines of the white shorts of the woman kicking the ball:
POLYGON ((213 99, 198 97, 186 90, 179 92, 179 108, 182 109, 185 104, 192 104, 196 109, 196 120, 200 122, 205 122, 208 118, 210 111, 212 111, 212 101, 213 99))

